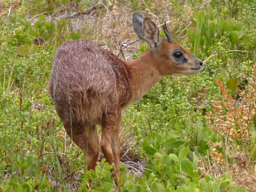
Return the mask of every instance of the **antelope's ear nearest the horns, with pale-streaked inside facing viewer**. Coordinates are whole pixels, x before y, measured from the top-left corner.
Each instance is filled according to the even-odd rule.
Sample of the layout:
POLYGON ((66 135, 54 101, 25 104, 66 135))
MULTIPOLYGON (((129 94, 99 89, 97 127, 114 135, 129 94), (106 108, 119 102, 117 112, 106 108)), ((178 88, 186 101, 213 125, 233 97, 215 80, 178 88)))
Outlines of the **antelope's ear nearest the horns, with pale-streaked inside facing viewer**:
POLYGON ((149 18, 143 19, 142 35, 147 44, 150 45, 150 48, 157 47, 160 44, 158 27, 149 18))

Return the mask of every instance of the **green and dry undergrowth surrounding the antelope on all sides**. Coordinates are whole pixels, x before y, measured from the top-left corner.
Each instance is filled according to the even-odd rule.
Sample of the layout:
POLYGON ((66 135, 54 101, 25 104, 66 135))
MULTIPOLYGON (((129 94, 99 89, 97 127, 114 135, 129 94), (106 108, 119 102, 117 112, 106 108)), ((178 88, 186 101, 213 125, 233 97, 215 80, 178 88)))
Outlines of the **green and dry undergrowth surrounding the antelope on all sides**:
POLYGON ((0 3, 0 191, 255 191, 256 3, 102 2, 0 3), (174 39, 204 69, 164 77, 124 112, 121 156, 132 164, 121 164, 113 186, 105 159, 86 170, 48 80, 54 52, 69 40, 92 40, 126 60, 141 56, 147 45, 129 44, 137 39, 134 11, 170 21, 174 39))

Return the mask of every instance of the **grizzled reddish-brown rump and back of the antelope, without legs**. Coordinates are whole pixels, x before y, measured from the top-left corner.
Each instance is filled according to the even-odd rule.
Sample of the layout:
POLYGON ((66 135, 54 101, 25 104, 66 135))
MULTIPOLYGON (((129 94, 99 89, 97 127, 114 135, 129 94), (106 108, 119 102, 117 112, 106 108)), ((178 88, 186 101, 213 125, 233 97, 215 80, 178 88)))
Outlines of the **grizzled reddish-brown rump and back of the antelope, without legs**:
POLYGON ((85 40, 70 41, 55 53, 49 92, 62 121, 97 124, 104 111, 131 97, 125 62, 85 40), (122 98, 122 99, 119 99, 122 98))

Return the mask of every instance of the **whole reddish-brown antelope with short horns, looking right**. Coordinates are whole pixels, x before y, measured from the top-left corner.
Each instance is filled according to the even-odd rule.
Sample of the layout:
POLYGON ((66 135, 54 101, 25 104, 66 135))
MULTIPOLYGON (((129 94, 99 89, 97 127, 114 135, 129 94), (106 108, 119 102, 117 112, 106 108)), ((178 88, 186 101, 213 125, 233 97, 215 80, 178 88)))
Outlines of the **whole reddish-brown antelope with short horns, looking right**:
POLYGON ((119 131, 122 110, 143 97, 166 75, 195 74, 203 62, 167 37, 150 18, 133 14, 134 31, 149 45, 138 59, 123 61, 112 52, 85 40, 62 45, 53 59, 49 93, 61 122, 86 157, 87 170, 95 169, 101 151, 118 181, 119 131), (99 142, 96 126, 102 130, 99 142))

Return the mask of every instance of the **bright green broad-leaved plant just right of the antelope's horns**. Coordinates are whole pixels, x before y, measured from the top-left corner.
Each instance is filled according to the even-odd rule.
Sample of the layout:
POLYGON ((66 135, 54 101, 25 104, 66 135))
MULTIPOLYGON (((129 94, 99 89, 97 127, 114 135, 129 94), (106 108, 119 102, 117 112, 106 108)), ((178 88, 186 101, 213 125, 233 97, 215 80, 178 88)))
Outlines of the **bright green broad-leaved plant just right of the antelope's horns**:
POLYGON ((205 52, 204 49, 216 42, 229 41, 231 45, 245 45, 249 41, 242 31, 243 23, 236 23, 231 18, 216 18, 212 8, 208 8, 206 12, 196 12, 191 22, 195 28, 189 27, 187 32, 193 43, 192 51, 195 55, 199 55, 200 51, 205 52))

